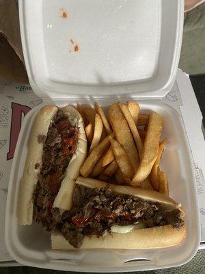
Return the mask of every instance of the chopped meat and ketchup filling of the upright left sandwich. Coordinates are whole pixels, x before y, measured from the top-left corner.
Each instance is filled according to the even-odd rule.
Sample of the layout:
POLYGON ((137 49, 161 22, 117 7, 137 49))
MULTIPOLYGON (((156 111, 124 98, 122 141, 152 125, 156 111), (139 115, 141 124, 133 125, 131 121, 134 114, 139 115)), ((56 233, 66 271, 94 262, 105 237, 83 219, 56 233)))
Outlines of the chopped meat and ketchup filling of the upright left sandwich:
MULTIPOLYGON (((66 168, 77 149, 79 129, 60 109, 51 120, 47 136, 39 135, 44 144, 42 167, 33 195, 33 220, 46 229, 53 227, 52 206, 65 177, 66 168)), ((35 169, 40 169, 36 163, 35 169)))

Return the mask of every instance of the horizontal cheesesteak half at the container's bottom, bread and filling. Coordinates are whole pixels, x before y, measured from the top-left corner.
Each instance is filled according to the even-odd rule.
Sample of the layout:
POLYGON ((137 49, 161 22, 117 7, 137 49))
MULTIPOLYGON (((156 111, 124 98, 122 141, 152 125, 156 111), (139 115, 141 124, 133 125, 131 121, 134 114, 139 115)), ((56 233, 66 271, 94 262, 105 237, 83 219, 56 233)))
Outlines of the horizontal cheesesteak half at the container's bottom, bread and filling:
POLYGON ((179 203, 156 192, 78 177, 72 209, 56 209, 53 249, 178 245, 187 234, 179 203))

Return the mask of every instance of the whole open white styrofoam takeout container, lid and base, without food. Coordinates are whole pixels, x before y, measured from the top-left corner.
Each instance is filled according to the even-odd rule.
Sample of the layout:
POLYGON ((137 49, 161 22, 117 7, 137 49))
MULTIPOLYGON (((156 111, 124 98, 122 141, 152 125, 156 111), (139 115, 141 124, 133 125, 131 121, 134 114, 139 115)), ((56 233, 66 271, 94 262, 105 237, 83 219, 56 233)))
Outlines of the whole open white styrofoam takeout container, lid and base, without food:
POLYGON ((182 2, 53 0, 51 4, 45 0, 20 1, 20 30, 27 73, 33 91, 44 103, 62 106, 79 102, 93 106, 98 101, 107 110, 115 101, 137 100, 143 112, 154 110, 161 114, 163 137, 169 138, 161 169, 168 175, 170 197, 182 203, 188 234, 182 244, 165 249, 52 251, 51 235, 39 225, 20 227, 16 219, 18 191, 37 107, 23 121, 10 175, 5 242, 14 260, 48 269, 117 272, 178 266, 195 255, 200 244, 200 220, 187 136, 182 117, 161 100, 176 76, 182 40, 182 2), (62 8, 68 13, 66 19, 60 17, 62 8), (88 16, 90 14, 92 16, 88 16), (118 32, 115 33, 115 29, 118 32), (133 32, 135 37, 129 40, 133 32), (116 44, 123 35, 129 43, 116 44), (73 36, 79 43, 77 53, 68 47, 73 36), (123 49, 127 54, 123 55, 123 49), (107 61, 102 62, 103 59, 107 61), (81 65, 85 70, 83 76, 81 65), (130 71, 124 70, 124 66, 130 71), (72 67, 76 73, 81 72, 77 77, 70 71, 72 67))

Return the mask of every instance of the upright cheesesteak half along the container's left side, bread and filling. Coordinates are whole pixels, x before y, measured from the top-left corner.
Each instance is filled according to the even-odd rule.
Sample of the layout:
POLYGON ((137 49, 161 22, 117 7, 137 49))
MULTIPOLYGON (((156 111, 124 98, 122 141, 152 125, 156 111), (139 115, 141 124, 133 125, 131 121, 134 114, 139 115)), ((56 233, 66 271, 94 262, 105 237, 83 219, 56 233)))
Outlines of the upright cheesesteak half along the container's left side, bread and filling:
POLYGON ((36 115, 18 199, 18 222, 53 229, 56 209, 72 208, 74 179, 87 152, 83 119, 72 106, 45 105, 36 115))

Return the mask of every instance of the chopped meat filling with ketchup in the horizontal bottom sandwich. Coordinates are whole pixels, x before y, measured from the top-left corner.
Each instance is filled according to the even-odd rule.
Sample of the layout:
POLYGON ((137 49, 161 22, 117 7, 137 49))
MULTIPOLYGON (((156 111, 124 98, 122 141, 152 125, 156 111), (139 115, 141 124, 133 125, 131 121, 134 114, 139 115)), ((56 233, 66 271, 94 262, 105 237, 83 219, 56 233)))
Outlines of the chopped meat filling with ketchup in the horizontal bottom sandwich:
POLYGON ((180 210, 165 211, 159 203, 129 195, 119 195, 109 188, 86 188, 77 185, 70 211, 53 208, 52 229, 75 248, 81 247, 84 236, 103 237, 111 227, 142 224, 143 227, 184 225, 180 210))

